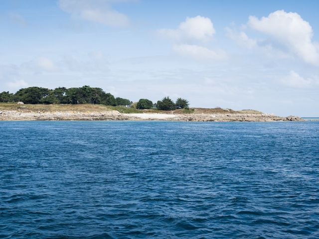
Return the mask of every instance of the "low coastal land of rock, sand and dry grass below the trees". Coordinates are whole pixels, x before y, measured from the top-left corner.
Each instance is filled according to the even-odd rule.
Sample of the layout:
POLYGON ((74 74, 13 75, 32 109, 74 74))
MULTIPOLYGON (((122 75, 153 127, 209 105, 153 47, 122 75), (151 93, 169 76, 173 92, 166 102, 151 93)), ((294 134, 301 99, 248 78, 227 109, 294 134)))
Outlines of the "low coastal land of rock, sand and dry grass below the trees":
POLYGON ((192 108, 189 111, 114 110, 102 105, 0 104, 0 120, 171 120, 171 121, 303 121, 295 116, 278 117, 254 110, 192 108), (122 111, 122 112, 121 112, 122 111), (138 113, 137 113, 138 112, 138 113))

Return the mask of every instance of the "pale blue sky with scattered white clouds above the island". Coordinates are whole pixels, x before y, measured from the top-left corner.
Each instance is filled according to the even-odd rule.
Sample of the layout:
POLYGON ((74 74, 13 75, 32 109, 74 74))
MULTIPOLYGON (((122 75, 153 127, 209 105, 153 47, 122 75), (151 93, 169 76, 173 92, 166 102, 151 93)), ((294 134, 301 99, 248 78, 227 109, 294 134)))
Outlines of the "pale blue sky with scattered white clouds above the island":
POLYGON ((1 0, 0 92, 319 116, 318 0, 1 0))

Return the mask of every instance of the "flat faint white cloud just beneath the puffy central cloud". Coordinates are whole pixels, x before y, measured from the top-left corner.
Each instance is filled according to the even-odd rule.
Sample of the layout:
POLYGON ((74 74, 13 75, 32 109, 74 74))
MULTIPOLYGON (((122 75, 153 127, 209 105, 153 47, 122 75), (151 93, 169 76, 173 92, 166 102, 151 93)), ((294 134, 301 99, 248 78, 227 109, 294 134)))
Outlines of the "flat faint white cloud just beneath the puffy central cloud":
POLYGON ((225 60, 227 55, 222 50, 210 50, 198 45, 180 44, 174 45, 173 50, 185 57, 191 57, 196 60, 225 60))

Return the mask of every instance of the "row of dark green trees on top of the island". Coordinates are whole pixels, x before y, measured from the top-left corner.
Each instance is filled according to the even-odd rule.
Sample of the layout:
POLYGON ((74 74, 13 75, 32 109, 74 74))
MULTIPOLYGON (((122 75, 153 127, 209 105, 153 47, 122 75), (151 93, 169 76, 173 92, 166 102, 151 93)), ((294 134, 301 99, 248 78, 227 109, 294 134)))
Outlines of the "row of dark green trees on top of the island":
POLYGON ((83 86, 76 88, 58 87, 54 90, 42 87, 28 87, 18 90, 15 94, 0 93, 0 102, 23 102, 24 104, 101 104, 107 106, 130 106, 136 109, 156 108, 163 111, 184 109, 189 107, 187 100, 178 98, 173 102, 169 97, 153 104, 151 100, 140 99, 138 102, 124 98, 115 98, 101 88, 83 86))

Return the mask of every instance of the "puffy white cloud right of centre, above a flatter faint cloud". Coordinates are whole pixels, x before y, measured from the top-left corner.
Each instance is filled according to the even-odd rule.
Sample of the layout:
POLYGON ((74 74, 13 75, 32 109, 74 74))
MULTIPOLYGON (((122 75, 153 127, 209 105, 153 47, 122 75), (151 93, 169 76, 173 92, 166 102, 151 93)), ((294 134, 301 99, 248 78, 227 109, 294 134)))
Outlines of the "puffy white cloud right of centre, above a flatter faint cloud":
POLYGON ((160 29, 160 34, 163 34, 174 40, 210 40, 215 34, 213 23, 208 17, 195 16, 187 17, 181 22, 177 29, 160 29))

